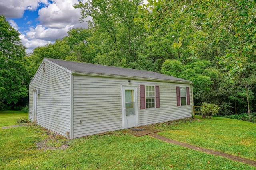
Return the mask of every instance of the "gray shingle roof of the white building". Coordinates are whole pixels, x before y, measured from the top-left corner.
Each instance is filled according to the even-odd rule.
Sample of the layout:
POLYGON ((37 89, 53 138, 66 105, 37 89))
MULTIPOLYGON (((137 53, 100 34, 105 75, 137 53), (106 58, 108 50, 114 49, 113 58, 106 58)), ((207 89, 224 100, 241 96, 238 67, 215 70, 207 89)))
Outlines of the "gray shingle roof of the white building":
POLYGON ((135 70, 130 68, 114 67, 114 66, 104 66, 98 64, 89 64, 89 63, 79 63, 74 61, 65 61, 58 59, 46 58, 53 63, 56 63, 70 71, 73 72, 86 72, 94 74, 110 74, 117 76, 129 76, 129 77, 139 77, 139 78, 154 78, 160 80, 174 80, 182 82, 190 82, 181 78, 176 78, 173 76, 167 76, 165 74, 160 74, 152 71, 145 70, 135 70))

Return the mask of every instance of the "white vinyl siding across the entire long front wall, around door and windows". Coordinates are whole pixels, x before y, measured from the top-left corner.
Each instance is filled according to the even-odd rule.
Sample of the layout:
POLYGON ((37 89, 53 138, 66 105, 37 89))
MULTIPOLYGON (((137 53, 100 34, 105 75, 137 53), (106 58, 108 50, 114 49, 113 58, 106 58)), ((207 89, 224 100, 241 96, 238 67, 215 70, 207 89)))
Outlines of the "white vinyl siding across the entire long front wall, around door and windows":
MULTIPOLYGON (((74 138, 122 129, 121 86, 129 86, 127 79, 74 75, 73 81, 74 138)), ((132 80, 130 86, 137 87, 139 126, 191 117, 192 104, 176 102, 176 86, 188 86, 192 100, 190 84, 132 80), (140 109, 140 84, 160 86, 160 108, 140 109)))

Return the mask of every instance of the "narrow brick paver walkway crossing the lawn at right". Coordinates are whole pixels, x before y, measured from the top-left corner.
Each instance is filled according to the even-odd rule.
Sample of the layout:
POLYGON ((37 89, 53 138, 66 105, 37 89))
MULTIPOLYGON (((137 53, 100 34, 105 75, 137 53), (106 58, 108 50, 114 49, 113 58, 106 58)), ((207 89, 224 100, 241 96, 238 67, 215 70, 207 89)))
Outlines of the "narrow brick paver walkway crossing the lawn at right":
POLYGON ((248 164, 248 165, 251 165, 251 166, 255 166, 256 167, 256 161, 255 160, 250 160, 250 159, 246 159, 246 158, 241 158, 239 156, 234 156, 232 154, 228 154, 228 153, 224 153, 224 152, 220 152, 220 151, 217 151, 217 150, 212 150, 212 149, 207 149, 207 148, 202 148, 202 147, 197 147, 195 145, 190 145, 190 144, 187 144, 187 143, 183 143, 183 142, 180 142, 180 141, 175 141, 173 139, 169 139, 167 137, 164 137, 164 136, 161 136, 161 135, 158 135, 156 133, 152 133, 152 134, 149 134, 151 137, 154 137, 156 139, 160 139, 161 141, 165 141, 167 143, 172 143, 172 144, 175 144, 175 145, 180 145, 182 147, 187 147, 187 148, 190 148, 190 149, 193 149, 193 150, 198 150, 198 151, 201 151, 201 152, 205 152, 205 153, 208 153, 208 154, 212 154, 212 155, 215 155, 215 156, 222 156, 224 158, 228 158, 230 160, 234 160, 234 161, 237 161, 237 162, 242 162, 244 164, 248 164))

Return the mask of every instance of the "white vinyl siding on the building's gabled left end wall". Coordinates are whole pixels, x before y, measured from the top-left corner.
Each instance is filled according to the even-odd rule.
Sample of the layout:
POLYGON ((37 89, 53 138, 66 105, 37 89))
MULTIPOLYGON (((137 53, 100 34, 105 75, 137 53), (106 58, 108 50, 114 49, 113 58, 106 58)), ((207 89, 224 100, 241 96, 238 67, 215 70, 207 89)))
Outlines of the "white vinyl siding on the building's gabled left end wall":
POLYGON ((46 73, 42 74, 41 64, 30 83, 29 117, 31 120, 32 87, 40 88, 40 95, 37 98, 36 123, 66 136, 66 133, 70 132, 70 73, 46 62, 46 73))

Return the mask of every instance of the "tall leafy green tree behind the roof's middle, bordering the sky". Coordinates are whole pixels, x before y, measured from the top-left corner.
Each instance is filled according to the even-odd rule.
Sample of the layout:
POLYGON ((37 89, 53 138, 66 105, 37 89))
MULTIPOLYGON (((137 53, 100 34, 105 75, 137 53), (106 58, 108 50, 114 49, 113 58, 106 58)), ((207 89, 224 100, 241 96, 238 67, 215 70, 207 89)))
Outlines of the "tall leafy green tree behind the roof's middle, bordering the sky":
POLYGON ((134 62, 143 42, 144 29, 134 25, 138 4, 142 0, 88 0, 79 1, 75 8, 81 9, 82 17, 91 16, 94 25, 92 41, 97 55, 94 63, 121 66, 134 62))

